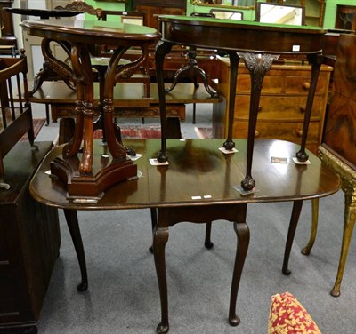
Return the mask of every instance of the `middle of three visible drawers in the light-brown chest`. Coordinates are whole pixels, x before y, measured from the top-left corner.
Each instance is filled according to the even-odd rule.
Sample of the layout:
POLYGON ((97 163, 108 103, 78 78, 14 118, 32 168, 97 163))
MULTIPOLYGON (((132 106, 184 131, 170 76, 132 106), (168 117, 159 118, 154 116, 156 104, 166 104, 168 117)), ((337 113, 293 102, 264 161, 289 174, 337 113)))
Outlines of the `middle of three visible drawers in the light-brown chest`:
MULTIPOLYGON (((303 122, 306 100, 306 96, 261 96, 258 119, 299 120, 303 122)), ((235 99, 235 117, 248 119, 249 105, 249 95, 237 95, 235 99)), ((324 107, 323 99, 320 96, 316 96, 313 102, 312 119, 320 120, 321 115, 324 113, 324 107)))

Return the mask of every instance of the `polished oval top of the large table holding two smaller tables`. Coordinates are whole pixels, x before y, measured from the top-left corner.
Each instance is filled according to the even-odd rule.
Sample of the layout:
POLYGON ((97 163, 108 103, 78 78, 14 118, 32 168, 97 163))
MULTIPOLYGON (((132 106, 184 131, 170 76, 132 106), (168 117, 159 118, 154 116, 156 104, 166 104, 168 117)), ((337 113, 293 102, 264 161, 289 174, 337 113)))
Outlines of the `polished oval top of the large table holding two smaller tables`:
MULTIPOLYGON (((98 202, 67 199, 66 185, 46 171, 61 148, 55 147, 30 183, 30 192, 40 202, 61 209, 118 210, 157 207, 204 206, 222 203, 262 203, 306 200, 332 195, 340 189, 339 177, 308 152, 309 164, 295 164, 299 145, 283 140, 256 139, 252 174, 255 192, 236 190, 245 177, 247 139, 235 139, 238 152, 224 154, 223 139, 167 139, 168 165, 151 165, 160 149, 160 139, 124 140, 142 154, 134 163, 142 177, 118 182, 98 202), (272 159, 273 158, 273 159, 272 159)), ((101 140, 94 140, 96 155, 107 154, 101 140)), ((78 156, 80 158, 80 156, 78 156)), ((110 158, 95 159, 109 164, 110 158)), ((93 165, 101 169, 102 165, 93 165)))

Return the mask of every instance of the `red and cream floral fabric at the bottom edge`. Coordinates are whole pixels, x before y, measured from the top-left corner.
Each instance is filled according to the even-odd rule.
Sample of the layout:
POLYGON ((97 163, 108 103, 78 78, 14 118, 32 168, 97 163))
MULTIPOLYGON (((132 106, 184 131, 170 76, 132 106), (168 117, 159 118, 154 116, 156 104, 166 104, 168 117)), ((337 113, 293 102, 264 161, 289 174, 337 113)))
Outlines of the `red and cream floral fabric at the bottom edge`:
POLYGON ((271 297, 268 334, 321 334, 312 316, 290 292, 271 297))

